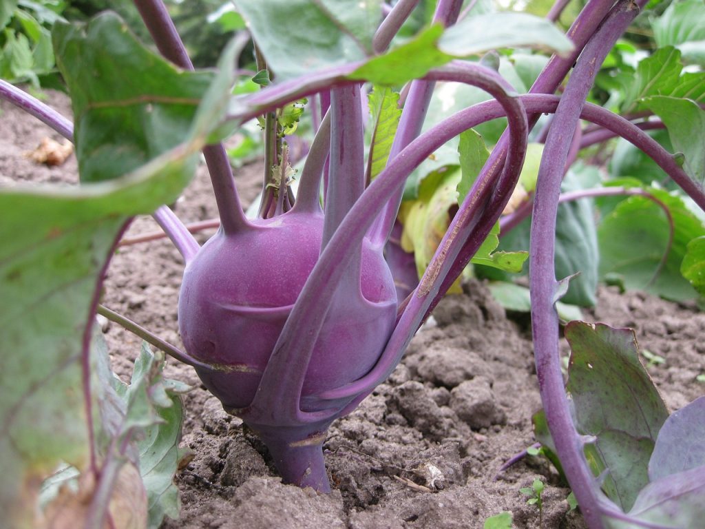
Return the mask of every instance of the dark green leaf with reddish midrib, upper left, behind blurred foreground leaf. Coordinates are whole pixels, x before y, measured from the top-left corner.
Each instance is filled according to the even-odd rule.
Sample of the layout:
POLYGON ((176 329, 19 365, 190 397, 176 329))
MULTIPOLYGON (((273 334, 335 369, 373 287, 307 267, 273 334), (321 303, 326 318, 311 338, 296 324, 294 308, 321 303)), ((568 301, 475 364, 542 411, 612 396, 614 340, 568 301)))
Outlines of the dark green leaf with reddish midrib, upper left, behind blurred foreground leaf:
POLYGON ((182 142, 214 79, 148 51, 113 13, 85 25, 57 23, 54 47, 71 94, 84 182, 121 176, 182 142))

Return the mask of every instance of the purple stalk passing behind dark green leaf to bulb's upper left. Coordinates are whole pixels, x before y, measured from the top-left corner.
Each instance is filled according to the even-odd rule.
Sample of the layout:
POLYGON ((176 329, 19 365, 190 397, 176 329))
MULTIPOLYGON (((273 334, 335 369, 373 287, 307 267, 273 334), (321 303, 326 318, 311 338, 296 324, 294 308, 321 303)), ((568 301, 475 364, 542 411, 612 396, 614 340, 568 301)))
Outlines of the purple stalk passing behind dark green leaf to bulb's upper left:
MULTIPOLYGON (((193 64, 171 17, 166 11, 164 2, 161 0, 135 0, 135 6, 140 11, 142 20, 145 21, 160 53, 180 68, 193 70, 193 64)), ((245 219, 238 192, 235 190, 233 170, 225 147, 223 145, 209 145, 204 148, 203 155, 211 175, 223 231, 235 233, 235 231, 247 229, 250 223, 245 219)))

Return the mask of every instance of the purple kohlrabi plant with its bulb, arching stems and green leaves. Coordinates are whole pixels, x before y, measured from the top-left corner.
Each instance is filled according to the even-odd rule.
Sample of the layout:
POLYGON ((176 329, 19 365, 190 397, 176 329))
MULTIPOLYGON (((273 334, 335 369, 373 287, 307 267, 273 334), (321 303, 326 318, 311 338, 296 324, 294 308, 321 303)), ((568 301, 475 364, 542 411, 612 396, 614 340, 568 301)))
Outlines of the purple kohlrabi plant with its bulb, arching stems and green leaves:
MULTIPOLYGON (((628 63, 611 54, 646 0, 589 0, 565 34, 553 24, 563 1, 546 19, 495 12, 482 1, 463 4, 235 0, 247 32, 235 35, 214 72, 193 71, 161 0, 135 0, 161 57, 112 13, 54 25, 73 123, 0 81, 1 97, 73 140, 80 172, 80 186, 0 192, 0 454, 11 462, 0 478, 0 506, 8 523, 51 525, 59 516, 52 502, 37 511, 35 499, 42 480, 67 465, 80 476, 85 523, 75 523, 115 523, 115 491, 124 480, 135 482, 123 470, 139 467, 137 434, 160 422, 157 411, 147 420, 135 410, 169 408, 166 383, 145 352, 132 401, 130 391, 112 383, 111 391, 128 395, 133 407, 109 413, 115 399, 104 389, 106 377, 96 375, 99 345, 92 340, 98 311, 195 367, 226 411, 259 434, 286 482, 329 492, 322 446, 331 422, 391 374, 471 262, 522 269, 525 253, 495 250, 502 232, 529 212, 530 310, 546 425, 537 437, 557 454, 590 528, 701 523, 705 408, 696 401, 677 412, 687 420, 668 417, 639 370, 632 334, 568 324, 573 356, 566 393, 556 303, 569 291, 568 276, 592 276, 580 259, 560 259, 556 233, 565 226, 556 226, 556 218, 559 202, 627 195, 634 200, 605 202, 603 212, 641 208, 634 218, 647 236, 652 220, 665 215, 668 245, 680 255, 676 262, 666 252, 649 268, 649 253, 651 261, 634 271, 638 279, 651 281, 655 269, 664 269, 671 283, 654 279, 659 288, 702 291, 697 236, 705 229, 701 211, 693 212, 705 207, 698 24, 704 5, 675 2, 654 20, 658 49, 632 61, 633 81, 616 97, 609 92, 614 85, 599 78, 601 65, 610 57, 613 65, 628 63), (417 4, 434 7, 434 14, 410 31, 405 22, 417 4), (238 56, 250 36, 262 88, 233 95, 238 56), (604 106, 591 92, 596 83, 599 94, 611 95, 604 106), (452 113, 427 116, 439 92, 466 85, 473 91, 468 104, 453 109, 462 100, 453 98, 443 105, 452 113), (303 105, 315 136, 295 175, 286 135, 303 105), (264 127, 265 176, 261 205, 248 218, 219 142, 255 118, 264 127), (663 128, 674 152, 646 132, 663 128), (685 194, 634 181, 562 188, 582 150, 617 137, 685 194), (529 149, 529 138, 542 146, 529 149), (522 174, 527 150, 533 176, 530 169, 522 174), (202 246, 164 206, 188 183, 201 151, 220 216, 219 230, 202 246), (423 169, 449 154, 454 162, 423 169), (417 205, 400 208, 405 187, 417 205), (635 205, 637 199, 654 208, 635 205), (443 212, 440 219, 434 211, 443 212), (503 212, 509 217, 501 219, 503 212), (183 255, 178 325, 185 351, 99 308, 104 271, 135 214, 153 214, 183 255), (403 238, 421 252, 411 267, 398 253, 403 238), (403 279, 395 284, 396 278, 403 279), (605 358, 618 365, 619 376, 605 358), (155 404, 140 407, 149 398, 155 404), (620 399, 631 407, 615 409, 620 399), (47 437, 54 442, 44 443, 47 437), (688 450, 677 439, 686 439, 688 450)), ((599 162, 598 154, 591 156, 599 162)), ((654 240, 662 235, 653 233, 654 240)), ((619 268, 618 248, 611 250, 615 269, 606 274, 619 268)), ((628 283, 632 271, 618 271, 628 283)), ((176 451, 173 439, 166 449, 176 451)), ((165 511, 150 511, 150 519, 158 525, 165 511)))

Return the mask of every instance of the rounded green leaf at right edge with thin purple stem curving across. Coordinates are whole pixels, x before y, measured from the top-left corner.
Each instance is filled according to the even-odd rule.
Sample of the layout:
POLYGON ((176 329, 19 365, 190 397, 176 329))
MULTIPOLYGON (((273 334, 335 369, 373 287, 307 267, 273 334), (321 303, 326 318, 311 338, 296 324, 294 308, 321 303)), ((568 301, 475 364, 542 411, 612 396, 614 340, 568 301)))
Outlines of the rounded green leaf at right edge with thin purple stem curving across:
POLYGON ((695 298, 697 293, 681 275, 680 267, 687 244, 704 236, 705 227, 677 195, 647 190, 668 207, 673 219, 673 243, 665 265, 661 267, 670 235, 668 218, 653 201, 633 196, 620 202, 599 225, 600 276, 618 277, 626 288, 668 299, 695 298))

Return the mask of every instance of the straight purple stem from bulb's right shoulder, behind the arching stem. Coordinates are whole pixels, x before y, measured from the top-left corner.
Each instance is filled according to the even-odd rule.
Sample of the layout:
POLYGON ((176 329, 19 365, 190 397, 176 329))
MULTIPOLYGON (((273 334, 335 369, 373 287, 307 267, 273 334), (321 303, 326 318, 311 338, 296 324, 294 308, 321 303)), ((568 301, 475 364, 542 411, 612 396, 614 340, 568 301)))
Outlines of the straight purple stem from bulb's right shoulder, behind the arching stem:
MULTIPOLYGON (((462 8, 462 0, 439 0, 434 13, 434 24, 441 24, 446 28, 453 25, 455 20, 458 20, 460 8, 462 8)), ((389 150, 388 160, 393 160, 404 147, 421 133, 435 87, 436 83, 429 80, 416 79, 410 83, 399 126, 389 150)), ((375 221, 369 233, 373 244, 381 246, 387 240, 394 226, 403 193, 404 187, 400 186, 396 195, 389 200, 388 205, 375 221)))

